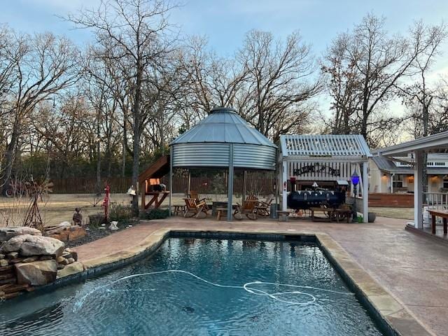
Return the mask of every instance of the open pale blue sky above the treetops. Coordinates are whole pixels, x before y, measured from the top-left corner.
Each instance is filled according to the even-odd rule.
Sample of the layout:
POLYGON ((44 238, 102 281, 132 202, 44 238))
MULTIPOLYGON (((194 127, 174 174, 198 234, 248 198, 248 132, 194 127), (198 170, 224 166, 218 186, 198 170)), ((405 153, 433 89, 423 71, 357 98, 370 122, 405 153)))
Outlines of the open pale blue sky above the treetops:
MULTIPOLYGON (((427 25, 448 24, 448 0, 180 0, 171 22, 183 34, 207 36, 209 46, 222 56, 232 57, 251 29, 271 31, 284 38, 300 31, 303 40, 320 57, 337 33, 349 30, 367 13, 386 18, 391 34, 406 34, 415 20, 427 25)), ((18 31, 52 31, 66 34, 76 43, 87 43, 88 31, 73 29, 58 16, 79 8, 97 6, 98 0, 0 0, 0 22, 18 31)), ((448 74, 448 43, 437 59, 432 78, 448 74)), ((325 99, 323 99, 325 106, 325 99)), ((325 109, 325 108, 324 108, 325 109)), ((400 111, 399 102, 391 109, 400 111)))

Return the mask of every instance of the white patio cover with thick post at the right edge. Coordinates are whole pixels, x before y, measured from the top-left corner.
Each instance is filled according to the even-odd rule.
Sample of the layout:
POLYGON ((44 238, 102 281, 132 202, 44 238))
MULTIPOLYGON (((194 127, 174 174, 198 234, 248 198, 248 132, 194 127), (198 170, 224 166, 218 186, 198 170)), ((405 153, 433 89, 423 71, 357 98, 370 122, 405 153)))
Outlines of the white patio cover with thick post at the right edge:
POLYGON ((394 161, 394 157, 414 154, 414 227, 418 229, 423 229, 423 153, 440 149, 448 149, 448 131, 377 151, 377 155, 394 161))

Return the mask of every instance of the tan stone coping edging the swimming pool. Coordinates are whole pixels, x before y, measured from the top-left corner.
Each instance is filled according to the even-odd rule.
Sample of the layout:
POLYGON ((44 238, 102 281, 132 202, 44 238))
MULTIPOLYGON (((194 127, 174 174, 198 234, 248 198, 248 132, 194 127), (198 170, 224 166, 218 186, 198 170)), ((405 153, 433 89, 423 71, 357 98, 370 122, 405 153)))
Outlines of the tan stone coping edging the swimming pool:
POLYGON ((360 267, 358 263, 337 243, 330 235, 323 232, 289 232, 287 230, 201 230, 195 228, 160 228, 155 230, 136 246, 126 248, 123 251, 106 255, 99 258, 87 260, 82 263, 83 267, 73 269, 63 276, 58 276, 54 283, 36 288, 36 290, 49 289, 52 290, 68 283, 79 282, 92 276, 97 276, 106 272, 111 272, 125 265, 129 265, 141 258, 145 258, 155 252, 165 239, 171 237, 172 234, 183 233, 187 235, 192 233, 200 235, 203 238, 222 239, 272 239, 275 236, 283 237, 299 237, 299 241, 314 241, 321 248, 326 258, 330 260, 338 274, 346 282, 349 288, 356 293, 358 300, 369 311, 374 320, 377 322, 381 331, 385 335, 409 335, 409 336, 425 336, 434 335, 414 318, 405 307, 395 300, 376 280, 368 274, 365 269, 360 267), (246 237, 244 236, 246 235, 246 237), (82 270, 81 270, 82 269, 82 270))

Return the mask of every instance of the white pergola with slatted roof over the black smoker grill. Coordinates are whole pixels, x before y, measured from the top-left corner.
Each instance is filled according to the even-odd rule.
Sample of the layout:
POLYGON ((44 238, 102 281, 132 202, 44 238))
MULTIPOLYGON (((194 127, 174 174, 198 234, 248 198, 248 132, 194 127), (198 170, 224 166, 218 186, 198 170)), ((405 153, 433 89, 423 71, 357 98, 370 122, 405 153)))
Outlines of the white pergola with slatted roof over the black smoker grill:
MULTIPOLYGON (((354 135, 281 135, 279 164, 283 192, 281 208, 286 211, 288 179, 297 181, 351 181, 353 172, 361 175, 363 214, 368 213, 368 160, 372 157, 363 136, 354 135)), ((354 199, 356 200, 356 195, 354 199)))

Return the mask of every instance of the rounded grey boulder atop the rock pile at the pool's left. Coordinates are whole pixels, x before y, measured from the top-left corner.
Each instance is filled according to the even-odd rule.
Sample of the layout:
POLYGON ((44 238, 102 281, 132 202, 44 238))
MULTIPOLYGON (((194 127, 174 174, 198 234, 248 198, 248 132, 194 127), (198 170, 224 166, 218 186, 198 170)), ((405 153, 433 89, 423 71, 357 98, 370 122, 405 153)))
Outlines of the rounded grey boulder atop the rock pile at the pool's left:
POLYGON ((16 236, 6 243, 1 249, 4 253, 19 251, 22 256, 52 255, 59 257, 64 251, 65 244, 57 239, 43 236, 21 235, 16 236))

